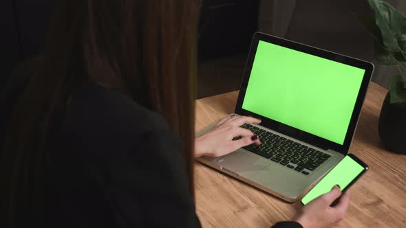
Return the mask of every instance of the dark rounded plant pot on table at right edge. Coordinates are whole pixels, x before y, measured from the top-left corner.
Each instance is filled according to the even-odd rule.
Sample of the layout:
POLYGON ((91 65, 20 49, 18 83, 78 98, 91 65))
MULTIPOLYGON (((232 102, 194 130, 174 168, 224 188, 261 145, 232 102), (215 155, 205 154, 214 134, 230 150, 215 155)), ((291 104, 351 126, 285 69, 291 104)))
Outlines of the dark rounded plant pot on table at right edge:
POLYGON ((386 148, 406 154, 406 102, 390 104, 389 92, 383 102, 378 132, 386 148))

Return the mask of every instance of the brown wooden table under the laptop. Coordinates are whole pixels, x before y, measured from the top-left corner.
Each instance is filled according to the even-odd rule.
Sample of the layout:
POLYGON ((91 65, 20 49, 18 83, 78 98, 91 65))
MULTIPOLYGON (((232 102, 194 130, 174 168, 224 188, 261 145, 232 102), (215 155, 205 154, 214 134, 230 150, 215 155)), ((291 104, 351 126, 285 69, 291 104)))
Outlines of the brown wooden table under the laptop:
MULTIPOLYGON (((350 152, 370 170, 352 186, 352 201, 339 227, 406 227, 406 156, 385 150, 378 118, 387 93, 371 83, 350 152)), ((233 113, 238 92, 196 102, 196 130, 233 113)), ((405 137, 406 140, 406 137, 405 137)), ((295 204, 196 163, 197 214, 203 227, 270 227, 290 220, 295 204)))

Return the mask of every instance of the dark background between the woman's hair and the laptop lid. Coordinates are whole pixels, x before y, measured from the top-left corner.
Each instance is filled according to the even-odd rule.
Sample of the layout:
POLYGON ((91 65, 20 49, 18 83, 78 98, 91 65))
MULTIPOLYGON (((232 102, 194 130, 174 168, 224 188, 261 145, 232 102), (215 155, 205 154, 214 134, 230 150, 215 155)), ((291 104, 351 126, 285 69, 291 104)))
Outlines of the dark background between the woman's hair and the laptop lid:
POLYGON ((198 98, 238 89, 259 1, 204 0, 199 24, 198 98))

